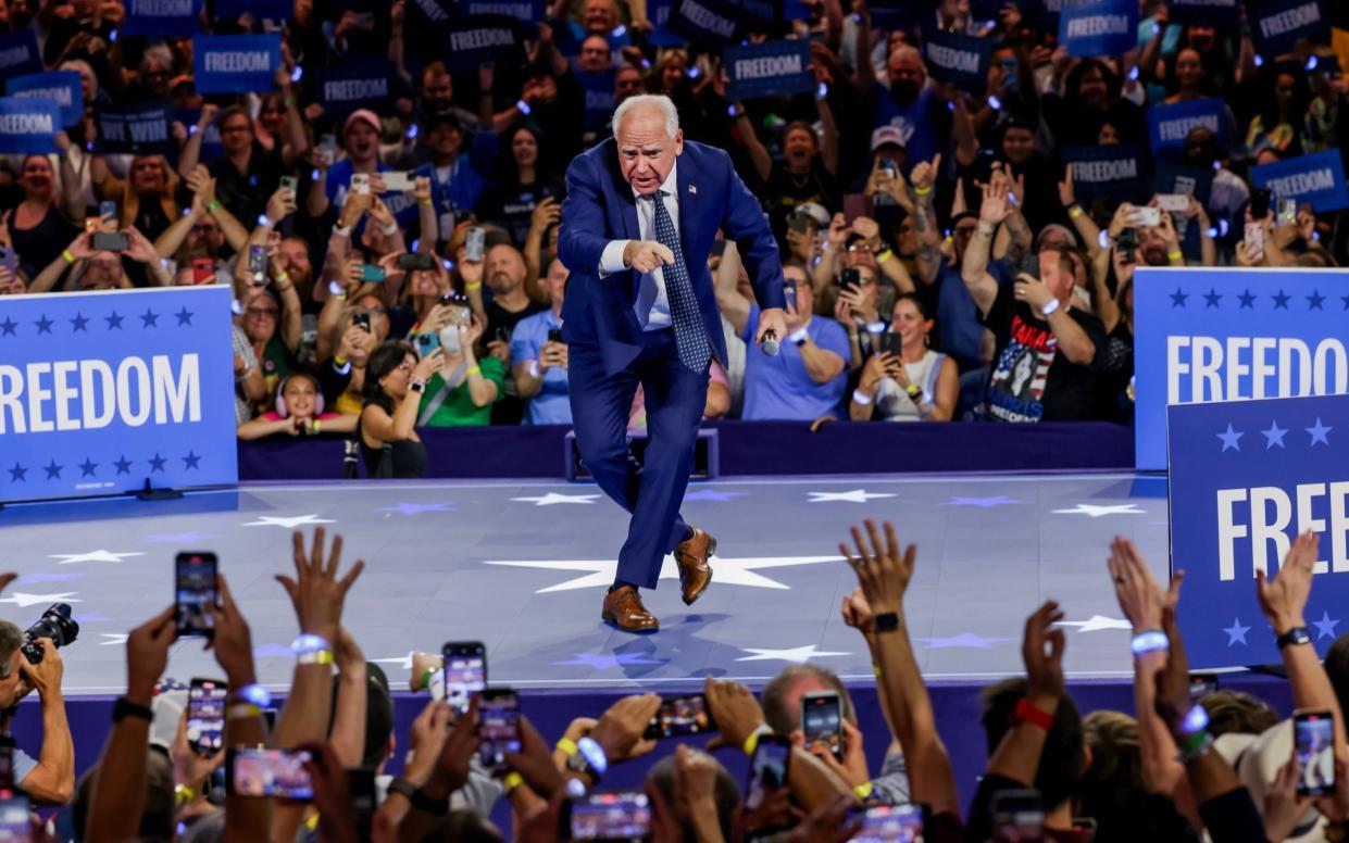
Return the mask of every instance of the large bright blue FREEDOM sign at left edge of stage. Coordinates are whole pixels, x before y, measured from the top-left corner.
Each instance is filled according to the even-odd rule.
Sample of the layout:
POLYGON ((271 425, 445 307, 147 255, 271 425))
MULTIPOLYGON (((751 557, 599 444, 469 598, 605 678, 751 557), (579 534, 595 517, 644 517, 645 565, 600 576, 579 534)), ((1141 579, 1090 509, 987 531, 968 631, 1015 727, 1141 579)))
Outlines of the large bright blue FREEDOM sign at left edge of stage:
POLYGON ((236 483, 229 287, 15 295, 0 500, 236 483))

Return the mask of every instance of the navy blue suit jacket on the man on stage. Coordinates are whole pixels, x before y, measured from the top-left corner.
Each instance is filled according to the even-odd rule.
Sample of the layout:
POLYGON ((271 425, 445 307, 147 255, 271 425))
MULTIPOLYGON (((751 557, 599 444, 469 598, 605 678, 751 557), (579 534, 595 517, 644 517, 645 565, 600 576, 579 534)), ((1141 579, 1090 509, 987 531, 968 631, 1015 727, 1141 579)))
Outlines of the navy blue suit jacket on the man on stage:
MULTIPOLYGON (((724 363, 726 339, 707 268, 718 229, 739 248, 759 306, 785 306, 782 264, 768 216, 737 175, 726 151, 685 140, 677 162, 684 264, 712 349, 724 363)), ((641 239, 637 200, 618 167, 618 143, 610 138, 567 167, 567 200, 557 240, 557 256, 572 272, 563 301, 563 339, 598 345, 610 375, 626 368, 642 349, 642 325, 634 310, 638 274, 625 270, 600 278, 600 255, 611 240, 641 239)))

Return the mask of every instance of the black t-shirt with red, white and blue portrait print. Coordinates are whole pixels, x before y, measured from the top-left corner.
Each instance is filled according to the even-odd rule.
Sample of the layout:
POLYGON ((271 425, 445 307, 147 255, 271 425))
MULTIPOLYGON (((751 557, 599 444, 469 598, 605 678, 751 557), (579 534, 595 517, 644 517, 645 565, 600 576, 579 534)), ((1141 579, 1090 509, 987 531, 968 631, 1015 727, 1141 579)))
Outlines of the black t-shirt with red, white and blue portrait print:
POLYGON ((1016 285, 998 287, 983 317, 997 339, 989 376, 987 414, 997 421, 1074 421, 1097 417, 1097 372, 1105 355, 1105 325, 1091 313, 1071 308, 1068 317, 1095 345, 1095 356, 1079 366, 1059 353, 1050 322, 1016 299, 1016 285))

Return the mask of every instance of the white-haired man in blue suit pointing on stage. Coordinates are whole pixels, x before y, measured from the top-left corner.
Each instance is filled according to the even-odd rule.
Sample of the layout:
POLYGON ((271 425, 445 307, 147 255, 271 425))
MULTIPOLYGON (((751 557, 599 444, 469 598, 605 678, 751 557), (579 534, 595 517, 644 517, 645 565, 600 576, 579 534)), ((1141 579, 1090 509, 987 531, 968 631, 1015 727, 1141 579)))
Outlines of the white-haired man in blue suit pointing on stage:
MULTIPOLYGON (((579 117, 577 117, 579 119, 579 117)), ((669 97, 614 112, 614 138, 572 161, 557 255, 572 275, 563 303, 572 421, 581 460, 633 514, 602 618, 629 633, 660 627, 638 588, 656 588, 666 553, 684 603, 712 579, 716 540, 684 523, 707 368, 726 340, 707 258, 718 229, 735 240, 764 308, 755 341, 786 333, 782 266, 768 217, 715 147, 684 142, 669 97), (641 469, 627 448, 637 384, 646 395, 641 469)))

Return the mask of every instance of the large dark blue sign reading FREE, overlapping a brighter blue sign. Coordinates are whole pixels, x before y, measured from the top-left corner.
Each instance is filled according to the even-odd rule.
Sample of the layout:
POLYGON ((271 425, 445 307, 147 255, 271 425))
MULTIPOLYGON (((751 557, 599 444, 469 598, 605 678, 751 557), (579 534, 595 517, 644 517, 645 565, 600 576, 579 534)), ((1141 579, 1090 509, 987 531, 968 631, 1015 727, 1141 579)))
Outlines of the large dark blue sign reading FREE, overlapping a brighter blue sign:
POLYGON ((1279 664, 1256 572, 1279 579, 1298 533, 1321 534, 1306 618, 1325 654, 1349 620, 1349 397, 1170 407, 1171 558, 1193 669, 1279 664))

